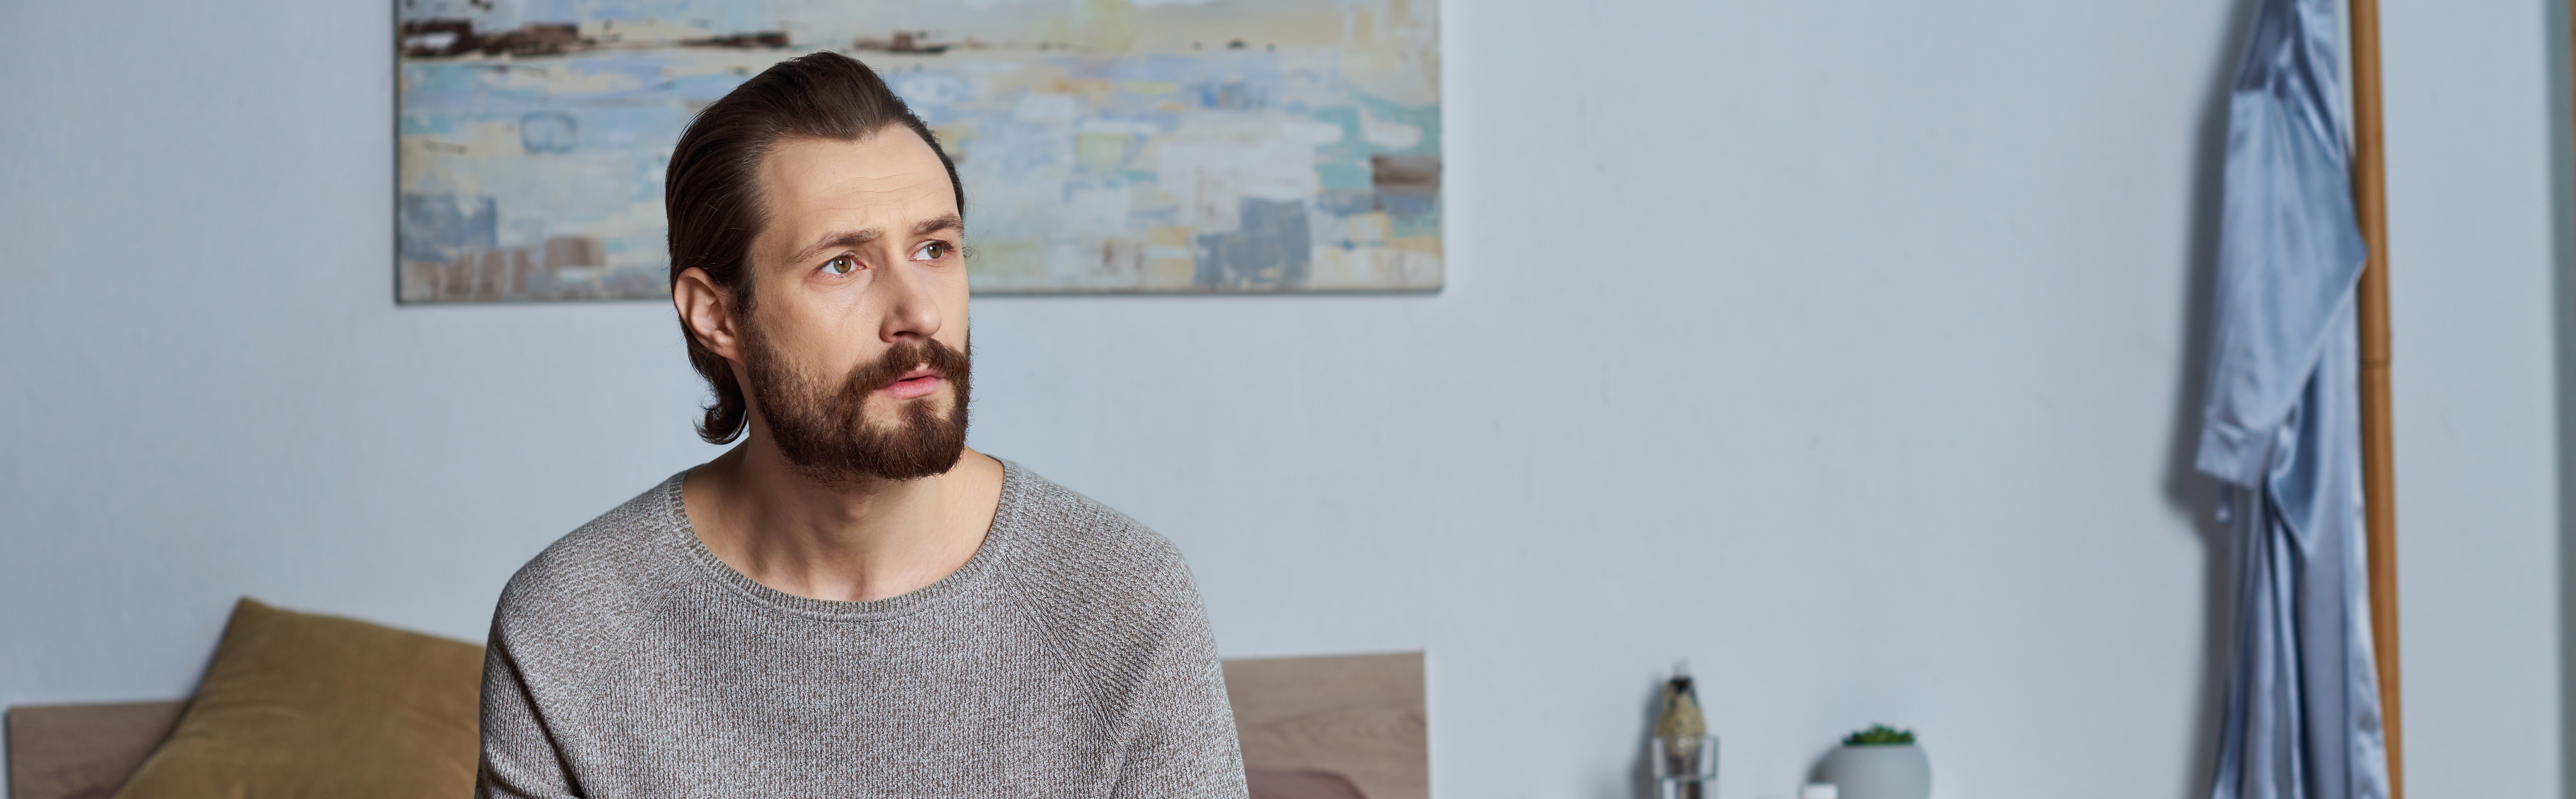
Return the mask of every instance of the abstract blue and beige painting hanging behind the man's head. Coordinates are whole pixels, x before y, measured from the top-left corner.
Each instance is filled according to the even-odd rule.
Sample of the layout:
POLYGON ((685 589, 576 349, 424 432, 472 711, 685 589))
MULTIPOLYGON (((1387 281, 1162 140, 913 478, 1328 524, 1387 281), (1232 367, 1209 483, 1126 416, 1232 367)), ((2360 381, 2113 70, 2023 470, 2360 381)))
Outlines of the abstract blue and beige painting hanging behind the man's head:
POLYGON ((981 294, 1437 291, 1432 0, 397 0, 402 302, 667 296, 698 108, 842 52, 940 137, 981 294))

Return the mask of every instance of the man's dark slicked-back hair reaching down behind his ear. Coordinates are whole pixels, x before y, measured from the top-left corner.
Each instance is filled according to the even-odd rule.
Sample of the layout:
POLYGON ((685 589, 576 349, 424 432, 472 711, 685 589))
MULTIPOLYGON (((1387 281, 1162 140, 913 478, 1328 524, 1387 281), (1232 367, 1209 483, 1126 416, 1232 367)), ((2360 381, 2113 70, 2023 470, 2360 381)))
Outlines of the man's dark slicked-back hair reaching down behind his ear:
MULTIPOLYGON (((683 271, 703 268, 708 281, 734 296, 734 312, 747 314, 752 284, 742 260, 752 237, 768 224, 760 209, 760 160, 778 139, 850 142, 896 124, 930 142, 930 152, 948 168, 958 214, 966 214, 966 186, 958 183, 958 165, 940 149, 940 139, 868 64, 845 54, 817 52, 778 62, 698 111, 672 147, 662 178, 672 289, 680 286, 683 271)), ((688 338, 688 366, 696 366, 716 394, 698 420, 698 438, 706 443, 739 438, 750 407, 734 379, 734 363, 698 343, 688 320, 680 320, 680 335, 688 338)))

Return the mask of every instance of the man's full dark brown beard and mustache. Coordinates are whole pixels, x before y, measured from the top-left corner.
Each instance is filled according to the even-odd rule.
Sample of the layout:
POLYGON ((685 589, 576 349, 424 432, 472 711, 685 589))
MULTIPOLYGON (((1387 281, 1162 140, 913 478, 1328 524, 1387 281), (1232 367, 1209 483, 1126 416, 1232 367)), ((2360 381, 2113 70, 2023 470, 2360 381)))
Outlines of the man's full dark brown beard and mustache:
POLYGON ((871 479, 914 479, 945 474, 966 454, 966 371, 974 361, 974 338, 966 351, 917 338, 886 348, 873 363, 850 369, 840 384, 809 379, 786 363, 757 327, 742 335, 742 366, 750 371, 750 392, 768 423, 770 441, 814 482, 866 485, 871 479), (902 418, 891 428, 871 425, 866 407, 876 389, 894 384, 914 366, 938 369, 953 389, 948 412, 938 412, 935 394, 902 400, 902 418))

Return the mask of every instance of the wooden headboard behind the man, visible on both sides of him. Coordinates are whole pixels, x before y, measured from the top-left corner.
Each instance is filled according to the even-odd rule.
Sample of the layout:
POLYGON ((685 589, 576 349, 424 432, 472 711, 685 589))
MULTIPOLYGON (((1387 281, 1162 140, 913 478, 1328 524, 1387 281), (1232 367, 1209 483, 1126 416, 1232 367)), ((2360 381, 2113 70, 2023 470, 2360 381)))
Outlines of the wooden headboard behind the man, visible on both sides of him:
MULTIPOLYGON (((1368 799, 1430 799, 1422 652, 1226 660, 1244 765, 1327 771, 1368 799)), ((108 799, 183 701, 8 709, 10 799, 108 799)))

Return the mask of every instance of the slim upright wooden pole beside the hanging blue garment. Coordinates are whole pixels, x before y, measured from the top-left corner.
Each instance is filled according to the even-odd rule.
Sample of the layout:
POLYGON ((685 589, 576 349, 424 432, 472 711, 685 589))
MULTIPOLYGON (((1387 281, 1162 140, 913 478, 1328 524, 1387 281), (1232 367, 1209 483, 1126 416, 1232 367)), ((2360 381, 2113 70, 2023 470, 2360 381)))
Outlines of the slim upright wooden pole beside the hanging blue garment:
POLYGON ((2388 732, 2388 796, 2406 799, 2403 719, 2398 714, 2398 477, 2388 418, 2388 162, 2380 131, 2380 3, 2349 0, 2352 15, 2352 211, 2370 258, 2362 263, 2362 528, 2370 559, 2370 642, 2380 670, 2380 724, 2388 732))

